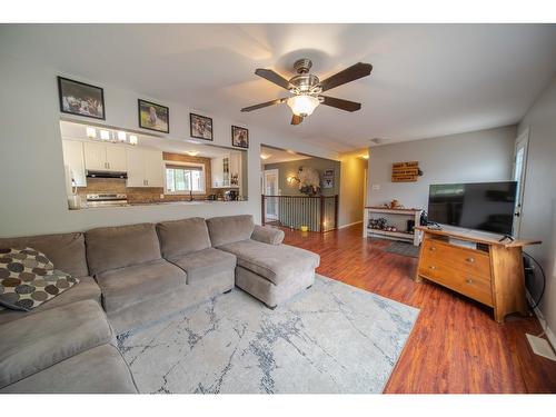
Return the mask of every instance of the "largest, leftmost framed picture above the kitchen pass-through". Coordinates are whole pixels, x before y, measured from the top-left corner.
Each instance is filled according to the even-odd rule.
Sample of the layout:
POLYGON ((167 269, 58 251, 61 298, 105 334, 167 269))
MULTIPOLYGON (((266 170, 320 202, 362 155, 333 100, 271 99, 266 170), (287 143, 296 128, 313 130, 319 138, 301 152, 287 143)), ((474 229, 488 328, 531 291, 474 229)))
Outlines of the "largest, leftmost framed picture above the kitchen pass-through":
POLYGON ((105 91, 100 87, 58 77, 58 96, 62 113, 106 119, 105 91))

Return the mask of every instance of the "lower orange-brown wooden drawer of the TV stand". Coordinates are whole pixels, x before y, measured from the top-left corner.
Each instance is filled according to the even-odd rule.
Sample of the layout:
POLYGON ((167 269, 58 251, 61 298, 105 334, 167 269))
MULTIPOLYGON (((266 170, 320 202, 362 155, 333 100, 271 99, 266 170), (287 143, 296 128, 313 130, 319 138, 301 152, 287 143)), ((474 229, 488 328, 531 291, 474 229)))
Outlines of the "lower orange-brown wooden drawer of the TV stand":
POLYGON ((431 257, 421 260, 419 275, 487 306, 494 305, 489 278, 459 270, 431 257))

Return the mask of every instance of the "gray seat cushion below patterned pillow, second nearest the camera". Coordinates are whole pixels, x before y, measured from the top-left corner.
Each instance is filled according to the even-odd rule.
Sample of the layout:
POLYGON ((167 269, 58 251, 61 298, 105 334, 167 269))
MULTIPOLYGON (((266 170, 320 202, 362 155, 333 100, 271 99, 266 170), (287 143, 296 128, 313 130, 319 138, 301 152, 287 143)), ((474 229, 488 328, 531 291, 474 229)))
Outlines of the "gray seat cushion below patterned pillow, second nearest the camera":
POLYGON ((92 300, 10 321, 0 326, 0 388, 113 341, 105 311, 92 300))

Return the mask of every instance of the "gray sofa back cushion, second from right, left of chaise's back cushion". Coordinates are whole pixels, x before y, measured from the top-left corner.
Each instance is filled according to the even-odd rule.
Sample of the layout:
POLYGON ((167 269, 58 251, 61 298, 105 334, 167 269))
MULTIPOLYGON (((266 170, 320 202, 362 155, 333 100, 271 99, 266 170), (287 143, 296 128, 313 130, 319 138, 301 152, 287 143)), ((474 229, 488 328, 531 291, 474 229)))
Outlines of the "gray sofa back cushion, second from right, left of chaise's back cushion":
POLYGON ((157 225, 162 257, 192 254, 210 248, 210 237, 203 218, 162 221, 157 225))

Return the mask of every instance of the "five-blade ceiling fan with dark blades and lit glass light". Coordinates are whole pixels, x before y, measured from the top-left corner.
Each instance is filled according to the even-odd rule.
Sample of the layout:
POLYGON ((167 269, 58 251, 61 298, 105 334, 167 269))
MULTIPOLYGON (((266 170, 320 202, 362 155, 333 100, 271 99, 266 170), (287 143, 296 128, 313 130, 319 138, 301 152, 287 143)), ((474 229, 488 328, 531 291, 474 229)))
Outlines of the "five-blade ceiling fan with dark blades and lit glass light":
POLYGON ((294 112, 291 125, 299 125, 307 116, 310 116, 320 103, 346 111, 357 111, 361 108, 361 103, 359 102, 322 96, 321 92, 369 76, 373 70, 373 66, 370 63, 358 62, 324 81, 320 81, 317 76, 309 72, 311 67, 312 62, 310 59, 302 58, 297 60, 294 63, 294 68, 298 75, 294 76, 289 80, 272 70, 258 68, 255 71, 257 76, 285 88, 294 96, 245 107, 241 111, 258 110, 264 107, 281 105, 285 102, 294 112))

